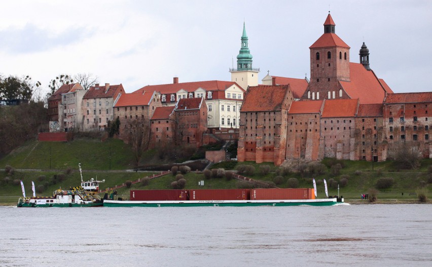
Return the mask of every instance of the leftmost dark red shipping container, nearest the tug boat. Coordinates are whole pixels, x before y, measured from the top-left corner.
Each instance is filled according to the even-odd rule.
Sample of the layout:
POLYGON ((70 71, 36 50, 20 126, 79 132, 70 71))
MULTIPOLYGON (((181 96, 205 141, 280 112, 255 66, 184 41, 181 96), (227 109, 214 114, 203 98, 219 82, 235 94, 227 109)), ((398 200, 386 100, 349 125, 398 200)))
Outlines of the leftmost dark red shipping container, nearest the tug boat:
POLYGON ((187 190, 131 190, 130 200, 164 201, 188 200, 187 190))

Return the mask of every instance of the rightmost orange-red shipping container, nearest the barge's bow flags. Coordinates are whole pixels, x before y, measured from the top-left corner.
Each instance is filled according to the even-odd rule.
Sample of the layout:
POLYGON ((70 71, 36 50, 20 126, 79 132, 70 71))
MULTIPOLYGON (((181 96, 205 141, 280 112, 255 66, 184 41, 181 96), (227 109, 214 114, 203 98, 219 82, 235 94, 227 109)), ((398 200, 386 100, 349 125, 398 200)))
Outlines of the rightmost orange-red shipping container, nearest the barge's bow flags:
POLYGON ((250 189, 251 200, 313 199, 313 189, 309 188, 274 188, 250 189))

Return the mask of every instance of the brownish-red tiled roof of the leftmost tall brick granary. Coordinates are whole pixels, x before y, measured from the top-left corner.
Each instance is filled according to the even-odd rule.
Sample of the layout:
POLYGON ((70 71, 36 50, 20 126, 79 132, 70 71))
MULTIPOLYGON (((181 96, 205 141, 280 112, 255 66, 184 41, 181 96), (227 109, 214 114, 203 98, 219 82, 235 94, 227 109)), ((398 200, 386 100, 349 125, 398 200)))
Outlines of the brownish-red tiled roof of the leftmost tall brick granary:
POLYGON ((290 85, 250 86, 243 100, 240 111, 281 110, 286 92, 290 85))

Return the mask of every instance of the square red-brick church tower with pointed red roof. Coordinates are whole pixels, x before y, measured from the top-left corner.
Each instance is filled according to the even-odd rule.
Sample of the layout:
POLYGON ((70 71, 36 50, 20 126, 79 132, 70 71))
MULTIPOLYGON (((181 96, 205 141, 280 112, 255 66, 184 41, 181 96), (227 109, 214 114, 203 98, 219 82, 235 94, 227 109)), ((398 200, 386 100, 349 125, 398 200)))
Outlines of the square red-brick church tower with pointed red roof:
POLYGON ((340 94, 335 94, 338 92, 339 81, 350 81, 350 47, 336 35, 335 26, 329 14, 324 22, 324 33, 309 47, 309 99, 341 98, 340 94))

